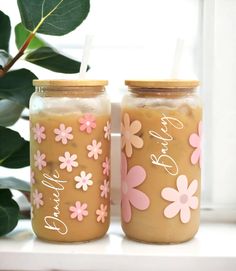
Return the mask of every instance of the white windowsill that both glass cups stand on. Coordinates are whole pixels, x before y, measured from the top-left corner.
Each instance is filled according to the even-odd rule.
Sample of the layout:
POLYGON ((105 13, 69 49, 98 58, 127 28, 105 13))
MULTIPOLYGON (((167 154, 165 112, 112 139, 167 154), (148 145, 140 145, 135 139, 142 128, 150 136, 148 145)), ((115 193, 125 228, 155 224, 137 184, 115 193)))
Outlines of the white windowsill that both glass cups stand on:
POLYGON ((124 237, 117 218, 108 234, 80 244, 49 244, 29 220, 0 239, 0 270, 235 271, 236 224, 202 222, 196 237, 178 245, 143 244, 124 237))

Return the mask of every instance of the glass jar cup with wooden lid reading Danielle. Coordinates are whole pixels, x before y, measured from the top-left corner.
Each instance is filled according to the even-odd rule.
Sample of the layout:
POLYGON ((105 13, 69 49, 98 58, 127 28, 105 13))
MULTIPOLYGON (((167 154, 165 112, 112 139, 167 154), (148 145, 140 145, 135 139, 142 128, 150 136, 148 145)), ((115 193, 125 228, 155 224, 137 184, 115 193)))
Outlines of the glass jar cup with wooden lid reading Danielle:
POLYGON ((102 237, 110 221, 107 81, 34 80, 30 100, 32 226, 47 241, 102 237))

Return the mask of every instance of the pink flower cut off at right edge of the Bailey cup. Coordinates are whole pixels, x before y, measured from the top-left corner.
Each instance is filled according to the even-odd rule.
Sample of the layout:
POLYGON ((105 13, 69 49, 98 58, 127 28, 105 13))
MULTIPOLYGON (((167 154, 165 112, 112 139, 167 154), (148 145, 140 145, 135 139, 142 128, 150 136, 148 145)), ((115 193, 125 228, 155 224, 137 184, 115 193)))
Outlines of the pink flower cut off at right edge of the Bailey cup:
POLYGON ((198 134, 193 133, 189 137, 189 144, 196 148, 191 155, 191 163, 196 165, 199 162, 201 167, 201 138, 202 138, 202 121, 198 124, 198 134))

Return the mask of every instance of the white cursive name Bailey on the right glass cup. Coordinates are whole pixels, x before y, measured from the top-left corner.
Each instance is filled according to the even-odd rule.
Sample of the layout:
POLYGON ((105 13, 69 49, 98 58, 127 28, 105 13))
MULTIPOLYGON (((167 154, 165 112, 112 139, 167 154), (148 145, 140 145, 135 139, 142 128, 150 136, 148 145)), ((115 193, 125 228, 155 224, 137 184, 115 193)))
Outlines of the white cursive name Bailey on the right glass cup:
POLYGON ((168 117, 163 113, 161 125, 162 127, 160 132, 156 132, 154 130, 149 131, 149 134, 157 139, 158 143, 161 144, 161 153, 159 155, 152 153, 150 155, 151 162, 153 165, 164 168, 168 174, 175 176, 178 174, 179 168, 174 158, 168 154, 169 144, 174 140, 173 136, 169 132, 169 127, 172 126, 175 129, 180 130, 184 128, 184 125, 177 118, 168 117))

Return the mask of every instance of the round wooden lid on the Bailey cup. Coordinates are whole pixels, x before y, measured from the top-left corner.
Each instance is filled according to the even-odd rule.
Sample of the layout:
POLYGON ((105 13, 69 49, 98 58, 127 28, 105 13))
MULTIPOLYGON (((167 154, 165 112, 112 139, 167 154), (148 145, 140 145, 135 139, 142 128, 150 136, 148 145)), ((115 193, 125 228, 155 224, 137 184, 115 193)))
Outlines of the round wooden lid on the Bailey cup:
POLYGON ((199 86, 198 80, 125 80, 125 84, 134 88, 196 88, 199 86))

